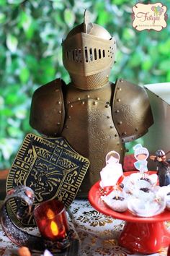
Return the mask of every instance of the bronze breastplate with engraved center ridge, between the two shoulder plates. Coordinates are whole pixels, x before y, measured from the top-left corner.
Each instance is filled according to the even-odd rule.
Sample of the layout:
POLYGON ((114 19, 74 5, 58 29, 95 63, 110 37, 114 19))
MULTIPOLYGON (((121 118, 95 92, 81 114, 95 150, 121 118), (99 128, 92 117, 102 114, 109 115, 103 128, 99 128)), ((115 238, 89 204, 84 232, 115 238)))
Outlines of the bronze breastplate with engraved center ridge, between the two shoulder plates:
POLYGON ((124 146, 112 120, 112 85, 83 91, 69 85, 66 95, 66 121, 62 136, 76 152, 89 158, 90 166, 79 189, 86 197, 90 187, 100 179, 105 156, 110 150, 120 153, 124 146))

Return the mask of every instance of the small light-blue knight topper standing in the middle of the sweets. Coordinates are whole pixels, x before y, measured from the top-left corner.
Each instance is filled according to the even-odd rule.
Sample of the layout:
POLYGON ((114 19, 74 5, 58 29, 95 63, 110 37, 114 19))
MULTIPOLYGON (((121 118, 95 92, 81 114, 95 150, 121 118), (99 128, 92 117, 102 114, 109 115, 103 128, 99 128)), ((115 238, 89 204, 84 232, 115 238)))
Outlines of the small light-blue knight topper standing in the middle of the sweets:
POLYGON ((137 170, 140 171, 141 174, 143 174, 146 171, 148 171, 148 167, 147 167, 148 161, 146 161, 149 155, 148 149, 143 148, 141 144, 137 144, 135 145, 135 147, 133 147, 133 150, 135 151, 134 156, 137 160, 134 163, 134 166, 135 168, 137 168, 137 170))

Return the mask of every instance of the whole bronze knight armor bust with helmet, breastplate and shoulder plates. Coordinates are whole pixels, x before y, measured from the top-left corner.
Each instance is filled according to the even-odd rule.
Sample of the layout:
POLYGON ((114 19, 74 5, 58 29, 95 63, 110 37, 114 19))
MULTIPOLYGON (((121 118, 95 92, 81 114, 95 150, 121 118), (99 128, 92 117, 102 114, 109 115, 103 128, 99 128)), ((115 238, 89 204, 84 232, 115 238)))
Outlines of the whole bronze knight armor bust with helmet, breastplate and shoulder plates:
POLYGON ((85 12, 84 22, 62 43, 63 65, 71 82, 53 80, 35 90, 30 125, 42 135, 65 137, 90 166, 79 189, 86 197, 100 179, 111 150, 125 155, 125 142, 141 137, 153 124, 146 91, 123 79, 109 82, 116 40, 85 12))

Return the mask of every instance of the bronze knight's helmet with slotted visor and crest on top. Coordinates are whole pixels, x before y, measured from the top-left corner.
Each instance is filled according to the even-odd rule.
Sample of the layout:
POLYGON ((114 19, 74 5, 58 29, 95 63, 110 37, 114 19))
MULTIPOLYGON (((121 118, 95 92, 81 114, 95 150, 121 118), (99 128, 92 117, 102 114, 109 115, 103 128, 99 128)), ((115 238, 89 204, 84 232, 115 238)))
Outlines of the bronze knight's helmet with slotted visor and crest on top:
POLYGON ((108 82, 115 61, 116 40, 108 31, 88 22, 73 28, 62 43, 63 64, 76 88, 94 90, 108 82))

